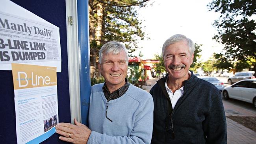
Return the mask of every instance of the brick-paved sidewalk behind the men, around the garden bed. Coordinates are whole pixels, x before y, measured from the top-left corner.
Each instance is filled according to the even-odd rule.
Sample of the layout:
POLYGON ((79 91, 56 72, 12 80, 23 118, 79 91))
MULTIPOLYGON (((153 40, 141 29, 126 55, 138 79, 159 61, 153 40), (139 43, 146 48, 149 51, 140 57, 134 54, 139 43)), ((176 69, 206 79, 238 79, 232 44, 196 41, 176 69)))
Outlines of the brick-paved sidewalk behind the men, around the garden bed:
MULTIPOLYGON (((147 80, 148 87, 143 89, 149 90, 156 84, 157 78, 147 80)), ((256 111, 247 111, 239 106, 232 105, 223 101, 226 116, 256 116, 256 111)), ((226 118, 227 122, 227 144, 256 144, 256 132, 251 129, 226 118)))

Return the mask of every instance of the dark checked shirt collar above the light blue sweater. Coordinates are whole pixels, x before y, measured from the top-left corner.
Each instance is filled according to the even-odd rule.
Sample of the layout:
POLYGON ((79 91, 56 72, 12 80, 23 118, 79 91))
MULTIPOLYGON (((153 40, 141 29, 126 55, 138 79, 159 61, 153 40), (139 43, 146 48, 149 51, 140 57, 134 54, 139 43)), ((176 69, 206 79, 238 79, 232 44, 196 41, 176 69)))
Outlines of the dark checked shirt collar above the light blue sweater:
POLYGON ((110 93, 106 83, 104 83, 102 90, 104 92, 106 99, 109 101, 110 98, 111 100, 115 100, 121 97, 128 90, 128 88, 129 88, 129 83, 128 83, 128 80, 125 78, 125 85, 119 88, 118 90, 115 90, 114 92, 110 93))

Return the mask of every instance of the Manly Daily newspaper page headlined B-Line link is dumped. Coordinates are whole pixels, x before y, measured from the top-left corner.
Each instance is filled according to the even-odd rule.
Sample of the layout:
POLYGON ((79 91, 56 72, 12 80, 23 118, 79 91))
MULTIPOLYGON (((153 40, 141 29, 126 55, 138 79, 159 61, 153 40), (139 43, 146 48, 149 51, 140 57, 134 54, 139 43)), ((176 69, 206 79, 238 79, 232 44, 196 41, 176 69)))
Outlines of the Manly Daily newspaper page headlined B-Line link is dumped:
POLYGON ((11 63, 54 66, 61 72, 59 28, 0 9, 0 70, 11 70, 11 63))

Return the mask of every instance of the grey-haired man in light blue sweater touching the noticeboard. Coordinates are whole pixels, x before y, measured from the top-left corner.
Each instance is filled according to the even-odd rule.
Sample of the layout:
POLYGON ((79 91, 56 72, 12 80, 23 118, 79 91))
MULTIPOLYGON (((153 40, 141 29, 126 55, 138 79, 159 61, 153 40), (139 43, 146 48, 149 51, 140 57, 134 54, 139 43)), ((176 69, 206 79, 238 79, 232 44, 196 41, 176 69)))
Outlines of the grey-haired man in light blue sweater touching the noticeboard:
POLYGON ((152 96, 127 79, 128 52, 119 42, 108 42, 99 52, 98 67, 105 83, 93 85, 89 128, 59 123, 59 139, 77 144, 150 144, 153 129, 152 96))

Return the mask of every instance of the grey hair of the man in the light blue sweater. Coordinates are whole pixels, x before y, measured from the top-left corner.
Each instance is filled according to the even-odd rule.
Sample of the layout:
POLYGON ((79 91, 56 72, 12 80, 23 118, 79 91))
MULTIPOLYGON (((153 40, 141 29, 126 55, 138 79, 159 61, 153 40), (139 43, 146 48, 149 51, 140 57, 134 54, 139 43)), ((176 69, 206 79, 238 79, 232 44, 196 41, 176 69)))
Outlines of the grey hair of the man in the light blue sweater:
POLYGON ((125 52, 125 54, 126 54, 126 64, 128 65, 129 57, 128 57, 128 51, 125 48, 125 46, 123 44, 121 44, 120 42, 116 42, 116 41, 107 42, 100 48, 100 52, 99 52, 100 65, 102 64, 103 55, 108 55, 110 53, 113 53, 113 55, 118 55, 122 51, 125 52))

